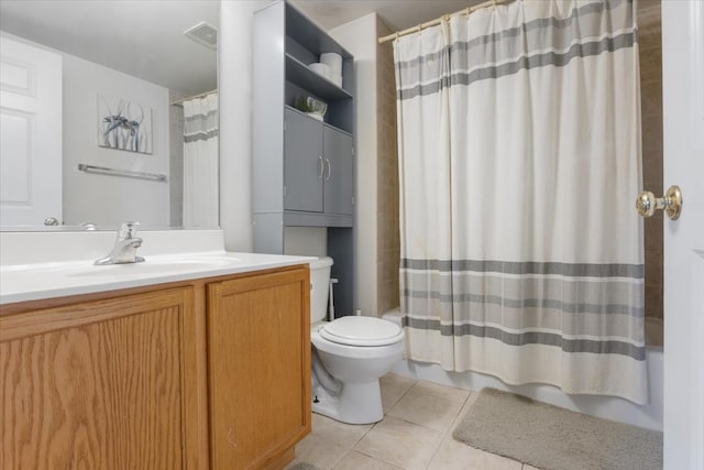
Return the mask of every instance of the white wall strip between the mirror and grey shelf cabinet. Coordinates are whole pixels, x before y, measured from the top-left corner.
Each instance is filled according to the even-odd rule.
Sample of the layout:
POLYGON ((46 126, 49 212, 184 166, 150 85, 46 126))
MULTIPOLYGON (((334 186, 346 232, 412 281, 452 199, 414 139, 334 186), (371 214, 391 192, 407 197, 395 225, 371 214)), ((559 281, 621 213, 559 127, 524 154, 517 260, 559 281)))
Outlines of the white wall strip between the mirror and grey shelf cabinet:
POLYGON ((268 3, 220 2, 220 227, 229 251, 252 251, 252 14, 268 3))

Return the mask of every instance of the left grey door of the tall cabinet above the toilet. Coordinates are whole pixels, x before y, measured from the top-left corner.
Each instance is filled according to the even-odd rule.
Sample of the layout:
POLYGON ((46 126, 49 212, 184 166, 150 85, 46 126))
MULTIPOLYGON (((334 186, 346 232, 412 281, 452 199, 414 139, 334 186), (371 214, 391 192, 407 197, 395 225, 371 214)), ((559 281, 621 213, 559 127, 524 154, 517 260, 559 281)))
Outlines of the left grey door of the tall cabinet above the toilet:
POLYGON ((322 122, 285 110, 284 209, 322 211, 322 122))

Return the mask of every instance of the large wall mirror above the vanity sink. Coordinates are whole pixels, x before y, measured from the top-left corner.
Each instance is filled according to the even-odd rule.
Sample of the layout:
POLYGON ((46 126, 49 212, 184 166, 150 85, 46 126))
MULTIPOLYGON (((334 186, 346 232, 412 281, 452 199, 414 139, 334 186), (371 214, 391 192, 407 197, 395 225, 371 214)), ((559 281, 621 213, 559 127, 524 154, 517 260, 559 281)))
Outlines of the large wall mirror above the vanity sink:
POLYGON ((219 4, 0 2, 2 230, 218 227, 219 4))

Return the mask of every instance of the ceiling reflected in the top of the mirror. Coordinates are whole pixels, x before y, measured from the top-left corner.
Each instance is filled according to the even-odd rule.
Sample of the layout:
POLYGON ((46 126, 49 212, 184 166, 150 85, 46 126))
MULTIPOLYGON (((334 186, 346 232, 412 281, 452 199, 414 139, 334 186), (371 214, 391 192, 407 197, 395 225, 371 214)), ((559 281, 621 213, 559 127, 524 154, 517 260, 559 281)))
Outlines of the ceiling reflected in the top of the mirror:
POLYGON ((0 0, 0 30, 194 95, 217 87, 217 53, 184 36, 218 0, 0 0))

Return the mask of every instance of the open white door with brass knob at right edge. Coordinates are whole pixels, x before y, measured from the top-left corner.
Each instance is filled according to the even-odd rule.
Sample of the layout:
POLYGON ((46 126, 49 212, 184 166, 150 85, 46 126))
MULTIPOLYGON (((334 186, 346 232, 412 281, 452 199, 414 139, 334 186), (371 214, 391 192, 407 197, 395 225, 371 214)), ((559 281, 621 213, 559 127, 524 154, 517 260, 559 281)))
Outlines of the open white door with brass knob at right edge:
POLYGON ((704 2, 662 2, 664 187, 664 468, 704 468, 704 2))

